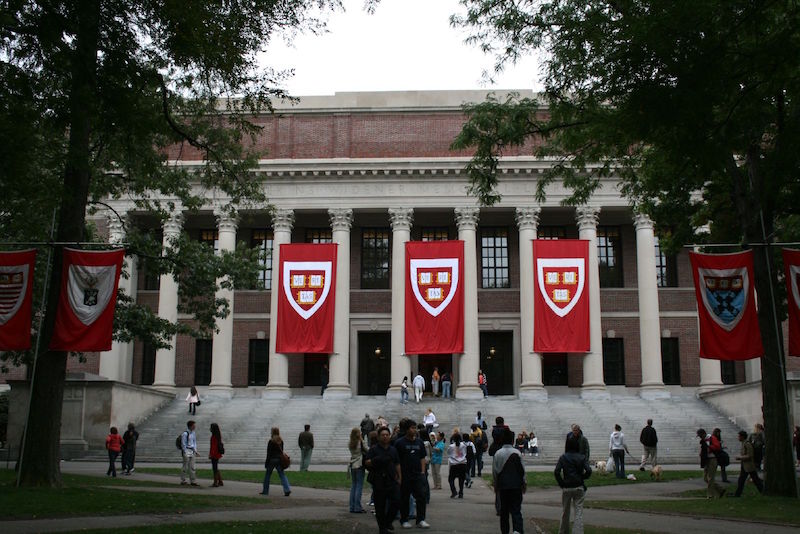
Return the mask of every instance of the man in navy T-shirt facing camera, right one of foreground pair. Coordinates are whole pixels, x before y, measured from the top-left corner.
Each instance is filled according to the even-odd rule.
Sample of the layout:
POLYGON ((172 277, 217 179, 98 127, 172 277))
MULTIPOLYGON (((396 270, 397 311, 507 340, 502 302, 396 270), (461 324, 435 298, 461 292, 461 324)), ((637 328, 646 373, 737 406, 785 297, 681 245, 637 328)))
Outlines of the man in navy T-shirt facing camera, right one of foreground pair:
MULTIPOLYGON (((417 375, 419 377, 420 375, 417 375)), ((416 378, 414 379, 416 381, 416 378)), ((415 387, 416 389, 416 387, 415 387)), ((425 477, 425 444, 417 436, 417 423, 411 419, 403 421, 403 435, 394 442, 394 448, 400 458, 400 526, 411 528, 409 519, 409 498, 414 497, 416 503, 417 527, 430 528, 425 521, 426 499, 423 485, 428 483, 425 477)))

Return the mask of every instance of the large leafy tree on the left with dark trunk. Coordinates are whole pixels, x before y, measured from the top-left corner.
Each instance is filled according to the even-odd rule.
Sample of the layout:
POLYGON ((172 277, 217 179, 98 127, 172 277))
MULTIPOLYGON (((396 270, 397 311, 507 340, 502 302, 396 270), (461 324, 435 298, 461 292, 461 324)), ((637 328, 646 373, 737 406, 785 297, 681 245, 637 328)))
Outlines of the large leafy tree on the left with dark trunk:
MULTIPOLYGON (((259 67, 257 54, 277 32, 322 29, 318 16, 339 7, 338 0, 0 2, 3 240, 46 241, 55 210, 56 242, 87 241, 87 207, 107 198, 126 196, 162 216, 169 206, 159 196, 194 209, 203 204, 202 189, 229 198, 231 209, 265 202, 249 173, 258 157, 249 140, 258 128, 248 118, 286 96, 276 88, 285 73, 259 67), (200 151, 202 170, 166 165, 175 146, 200 151)), ((214 258, 184 239, 179 254, 162 257, 152 237, 130 228, 127 239, 131 252, 152 257, 148 268, 181 277, 182 305, 201 329, 227 314, 226 302, 204 297, 217 280, 230 275, 223 283, 231 284, 252 272, 244 252, 214 258)), ((24 450, 35 461, 19 473, 29 486, 60 484, 68 355, 46 350, 62 261, 61 248, 52 250, 24 450)), ((149 337, 162 346, 185 329, 125 295, 115 324, 117 339, 152 329, 149 337)))

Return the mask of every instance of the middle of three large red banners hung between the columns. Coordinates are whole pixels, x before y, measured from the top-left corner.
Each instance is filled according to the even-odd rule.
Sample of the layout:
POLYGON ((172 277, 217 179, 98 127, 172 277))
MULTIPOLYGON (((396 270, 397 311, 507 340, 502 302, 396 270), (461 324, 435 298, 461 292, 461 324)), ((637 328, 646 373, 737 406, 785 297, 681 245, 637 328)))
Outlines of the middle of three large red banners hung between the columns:
POLYGON ((406 243, 406 354, 464 352, 464 242, 406 243))

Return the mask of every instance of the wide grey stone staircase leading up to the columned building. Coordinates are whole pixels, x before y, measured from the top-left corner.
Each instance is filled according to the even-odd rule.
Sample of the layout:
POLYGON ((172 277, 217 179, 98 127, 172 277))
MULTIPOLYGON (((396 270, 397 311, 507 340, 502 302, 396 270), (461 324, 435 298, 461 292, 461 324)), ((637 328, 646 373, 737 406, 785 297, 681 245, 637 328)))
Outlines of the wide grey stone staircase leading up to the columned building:
MULTIPOLYGON (((202 394, 201 394, 202 395, 202 394)), ((725 445, 735 456, 739 428, 712 406, 693 394, 673 395, 669 399, 645 400, 638 396, 612 394, 610 399, 582 399, 574 394, 550 395, 546 401, 528 401, 516 397, 492 397, 488 400, 444 400, 426 397, 423 402, 402 405, 397 399, 383 396, 358 396, 351 399, 324 400, 319 396, 296 396, 288 400, 263 399, 261 390, 237 392, 233 398, 202 395, 203 403, 192 417, 197 422, 201 458, 209 447, 209 426, 216 422, 225 442, 228 463, 262 463, 271 427, 281 429, 287 453, 296 461, 300 452, 297 435, 304 424, 311 425, 315 447, 313 463, 344 464, 349 458, 347 440, 365 413, 373 419, 383 415, 392 425, 402 417, 422 421, 431 407, 440 423, 439 430, 449 436, 454 427, 468 429, 480 410, 491 426, 502 415, 515 432, 533 430, 539 438, 540 456, 526 462, 551 464, 563 452, 564 437, 572 423, 578 423, 589 439, 591 460, 608 456, 608 436, 614 424, 622 426, 634 458, 642 452, 639 432, 648 418, 659 436, 660 463, 691 463, 698 460, 695 431, 722 430, 725 445)), ((179 453, 175 438, 189 419, 187 405, 176 399, 141 422, 136 457, 138 461, 176 462, 179 453)), ((120 428, 125 425, 120 422, 120 428)), ((88 451, 83 459, 106 460, 104 451, 88 451)), ((629 460, 633 462, 633 460, 629 460)))

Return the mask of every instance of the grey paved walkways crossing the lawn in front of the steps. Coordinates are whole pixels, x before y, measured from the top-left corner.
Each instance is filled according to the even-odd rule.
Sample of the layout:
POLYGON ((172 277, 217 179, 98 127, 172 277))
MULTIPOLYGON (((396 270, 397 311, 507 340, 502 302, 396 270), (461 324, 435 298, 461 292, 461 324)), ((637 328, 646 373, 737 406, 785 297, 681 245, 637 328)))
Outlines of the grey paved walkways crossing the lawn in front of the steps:
MULTIPOLYGON (((140 467, 156 467, 148 464, 140 467)), ((166 466, 166 465, 164 465, 166 466)), ((175 467, 170 464, 169 467, 175 467)), ((250 465, 249 468, 254 466, 250 465)), ((324 470, 326 466, 315 466, 315 470, 324 470)), ((341 466, 330 466, 340 471, 341 466)), ((689 466, 686 466, 689 467, 689 466)), ((691 466, 694 468, 694 466, 691 466)), ((226 465, 227 469, 235 466, 226 465)), ((65 462, 63 471, 77 474, 98 474, 101 466, 94 462, 65 462)), ((223 470, 224 474, 224 470, 223 470)), ((288 472, 291 481, 291 471, 288 472)), ((150 475, 135 473, 136 480, 149 480, 158 483, 174 483, 175 487, 119 487, 118 491, 153 491, 153 492, 197 492, 205 495, 230 495, 256 497, 261 490, 260 484, 250 482, 225 482, 222 488, 209 487, 210 481, 201 480, 200 487, 178 485, 175 476, 150 475)), ((277 476, 273 477, 273 482, 277 476)), ((473 479, 473 487, 465 490, 464 499, 450 499, 448 489, 432 490, 431 503, 428 507, 427 521, 431 524, 430 532, 463 533, 497 532, 499 522, 494 513, 494 494, 482 479, 473 479)), ((446 466, 443 469, 443 485, 447 487, 446 466)), ((664 482, 659 484, 641 484, 636 486, 636 494, 626 485, 590 488, 587 500, 616 499, 664 499, 687 489, 700 489, 702 480, 680 482, 664 482)), ((368 485, 365 488, 364 502, 369 496, 368 485)), ((335 520, 347 526, 348 532, 354 534, 373 533, 377 526, 372 514, 350 514, 347 512, 348 492, 345 490, 322 490, 293 487, 292 495, 284 497, 280 485, 271 486, 271 495, 265 499, 262 508, 252 510, 226 510, 182 514, 137 514, 104 517, 75 517, 63 519, 37 519, 20 521, 0 520, 0 532, 5 534, 29 532, 67 532, 86 529, 108 529, 122 527, 144 527, 148 525, 165 525, 179 523, 202 523, 209 521, 266 521, 279 519, 321 519, 335 520)), ((524 498, 523 516, 525 528, 530 534, 536 532, 534 518, 558 521, 561 517, 560 490, 532 489, 524 498)), ((651 514, 642 512, 620 512, 611 510, 584 510, 585 522, 589 525, 618 527, 640 532, 670 532, 676 534, 708 534, 708 532, 726 532, 732 534, 752 534, 753 532, 790 533, 796 528, 780 527, 764 523, 745 522, 741 520, 698 519, 691 517, 651 514)), ((399 528, 395 523, 395 528, 399 528)))

